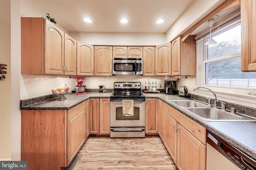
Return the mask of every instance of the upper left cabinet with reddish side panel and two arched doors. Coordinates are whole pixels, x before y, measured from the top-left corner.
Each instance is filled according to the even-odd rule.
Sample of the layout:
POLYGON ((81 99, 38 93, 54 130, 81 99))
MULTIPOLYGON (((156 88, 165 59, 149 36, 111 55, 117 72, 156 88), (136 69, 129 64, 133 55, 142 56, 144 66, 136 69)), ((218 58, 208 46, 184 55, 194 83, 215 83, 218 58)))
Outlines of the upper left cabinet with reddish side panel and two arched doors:
POLYGON ((44 18, 22 17, 21 74, 76 75, 76 41, 44 18))

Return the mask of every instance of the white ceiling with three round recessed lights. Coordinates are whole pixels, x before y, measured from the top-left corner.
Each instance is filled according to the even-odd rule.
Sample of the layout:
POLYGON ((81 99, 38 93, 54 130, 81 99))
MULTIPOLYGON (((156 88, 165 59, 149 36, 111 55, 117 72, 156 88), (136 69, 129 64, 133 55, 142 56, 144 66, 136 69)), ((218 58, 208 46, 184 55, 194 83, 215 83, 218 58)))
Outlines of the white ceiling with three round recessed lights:
MULTIPOLYGON (((30 0, 69 32, 166 33, 193 0, 30 0), (92 19, 92 23, 84 22, 92 19), (126 18, 128 23, 120 20, 126 18), (165 22, 155 21, 164 18, 165 22)), ((44 16, 46 18, 46 16, 44 16)))

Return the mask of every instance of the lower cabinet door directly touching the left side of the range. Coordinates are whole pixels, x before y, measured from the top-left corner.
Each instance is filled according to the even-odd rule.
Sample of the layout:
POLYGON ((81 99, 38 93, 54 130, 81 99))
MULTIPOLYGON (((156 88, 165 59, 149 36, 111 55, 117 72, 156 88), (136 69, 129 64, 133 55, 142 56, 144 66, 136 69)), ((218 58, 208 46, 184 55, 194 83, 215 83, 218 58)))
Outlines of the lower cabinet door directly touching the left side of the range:
POLYGON ((110 99, 100 99, 100 134, 110 134, 110 99))

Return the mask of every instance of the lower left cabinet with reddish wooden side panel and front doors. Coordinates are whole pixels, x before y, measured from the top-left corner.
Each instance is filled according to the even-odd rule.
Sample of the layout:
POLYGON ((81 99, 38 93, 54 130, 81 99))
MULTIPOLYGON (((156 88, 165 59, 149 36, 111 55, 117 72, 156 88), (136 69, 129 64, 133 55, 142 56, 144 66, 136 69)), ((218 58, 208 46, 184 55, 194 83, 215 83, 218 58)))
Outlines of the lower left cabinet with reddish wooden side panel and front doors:
POLYGON ((67 167, 85 141, 85 102, 66 110, 21 110, 21 160, 28 170, 67 167))

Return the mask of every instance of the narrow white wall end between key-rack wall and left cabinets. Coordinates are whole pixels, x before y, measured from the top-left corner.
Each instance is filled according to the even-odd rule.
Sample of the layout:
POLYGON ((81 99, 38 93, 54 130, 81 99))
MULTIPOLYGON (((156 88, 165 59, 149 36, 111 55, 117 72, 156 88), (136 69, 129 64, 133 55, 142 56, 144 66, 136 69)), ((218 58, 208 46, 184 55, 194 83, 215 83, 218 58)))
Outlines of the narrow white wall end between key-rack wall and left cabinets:
POLYGON ((20 160, 20 0, 11 2, 12 160, 20 160))

